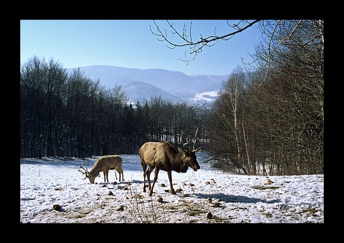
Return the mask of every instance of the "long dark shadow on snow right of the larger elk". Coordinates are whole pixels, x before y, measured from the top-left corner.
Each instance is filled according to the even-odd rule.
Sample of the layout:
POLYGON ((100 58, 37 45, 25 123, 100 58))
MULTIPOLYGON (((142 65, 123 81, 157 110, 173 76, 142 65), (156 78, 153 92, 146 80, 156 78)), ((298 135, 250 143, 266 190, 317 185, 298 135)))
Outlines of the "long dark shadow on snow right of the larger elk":
POLYGON ((255 197, 247 197, 247 196, 236 196, 236 195, 226 195, 224 193, 218 194, 200 194, 195 193, 195 196, 207 199, 208 197, 212 199, 221 199, 225 203, 247 203, 247 204, 256 204, 256 203, 265 203, 265 204, 275 204, 280 203, 280 199, 261 199, 255 197))

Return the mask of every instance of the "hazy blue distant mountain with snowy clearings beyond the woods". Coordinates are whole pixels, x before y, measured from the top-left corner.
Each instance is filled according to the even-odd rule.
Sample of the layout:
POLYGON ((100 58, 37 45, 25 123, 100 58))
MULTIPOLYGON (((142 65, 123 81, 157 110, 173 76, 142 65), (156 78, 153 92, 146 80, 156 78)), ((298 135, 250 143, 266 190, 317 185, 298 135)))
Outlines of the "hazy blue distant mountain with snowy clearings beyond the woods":
MULTIPOLYGON (((67 68, 72 72, 74 68, 67 68)), ((94 65, 80 67, 91 79, 100 79, 107 88, 121 85, 130 101, 144 102, 158 97, 173 102, 194 98, 196 94, 218 91, 228 75, 186 74, 166 69, 137 69, 94 65)))

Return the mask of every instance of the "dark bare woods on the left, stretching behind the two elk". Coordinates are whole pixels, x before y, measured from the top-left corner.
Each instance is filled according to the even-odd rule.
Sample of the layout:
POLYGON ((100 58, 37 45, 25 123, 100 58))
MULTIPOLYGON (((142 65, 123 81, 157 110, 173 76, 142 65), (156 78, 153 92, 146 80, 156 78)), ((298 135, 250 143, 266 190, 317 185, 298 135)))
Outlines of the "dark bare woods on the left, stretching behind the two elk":
POLYGON ((20 157, 137 154, 147 141, 177 148, 182 130, 186 141, 197 127, 205 136, 206 112, 160 96, 133 105, 118 85, 107 89, 79 68, 68 74, 34 56, 20 71, 20 157))

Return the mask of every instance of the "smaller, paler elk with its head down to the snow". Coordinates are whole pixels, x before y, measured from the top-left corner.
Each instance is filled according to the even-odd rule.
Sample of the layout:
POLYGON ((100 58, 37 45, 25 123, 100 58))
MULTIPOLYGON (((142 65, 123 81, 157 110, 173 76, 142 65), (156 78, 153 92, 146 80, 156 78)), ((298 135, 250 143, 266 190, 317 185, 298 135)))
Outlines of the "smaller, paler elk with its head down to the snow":
MULTIPOLYGON (((124 181, 124 176, 123 176, 123 170, 122 170, 122 163, 123 159, 119 155, 106 155, 106 156, 101 156, 98 158, 96 164, 93 166, 92 170, 88 172, 87 166, 86 169, 83 167, 80 168, 83 170, 81 171, 80 168, 78 169, 79 172, 86 175, 86 177, 83 179, 85 180, 86 178, 89 178, 90 183, 94 184, 96 177, 99 175, 100 172, 104 173, 104 182, 109 182, 109 170, 116 170, 119 174, 119 181, 122 175, 122 181, 124 181)), ((116 175, 115 171, 115 175, 116 175)), ((116 175, 116 180, 117 180, 117 175, 116 175)))

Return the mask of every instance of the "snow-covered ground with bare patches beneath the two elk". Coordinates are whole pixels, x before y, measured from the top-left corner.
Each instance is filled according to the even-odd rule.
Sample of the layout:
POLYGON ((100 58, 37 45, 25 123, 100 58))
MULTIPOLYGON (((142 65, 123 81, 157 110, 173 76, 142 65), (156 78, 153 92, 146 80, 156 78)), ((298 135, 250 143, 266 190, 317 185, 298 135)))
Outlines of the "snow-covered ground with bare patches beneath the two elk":
MULTIPOLYGON (((78 172, 84 159, 20 159, 20 222, 324 223, 324 175, 232 175, 196 154, 200 170, 172 172, 176 195, 160 171, 152 196, 143 192, 138 155, 120 155, 124 181, 110 171, 110 182, 100 173, 96 184, 78 172)), ((96 159, 89 160, 90 169, 96 159)))

